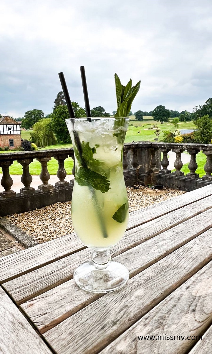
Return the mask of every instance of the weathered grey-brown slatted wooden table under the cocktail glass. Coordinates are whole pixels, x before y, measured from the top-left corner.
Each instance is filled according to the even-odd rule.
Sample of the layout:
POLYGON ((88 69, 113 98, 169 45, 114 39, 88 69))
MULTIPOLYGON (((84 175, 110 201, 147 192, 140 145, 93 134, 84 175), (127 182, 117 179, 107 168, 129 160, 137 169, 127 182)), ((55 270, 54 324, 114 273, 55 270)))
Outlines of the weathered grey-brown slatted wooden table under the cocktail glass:
POLYGON ((211 227, 212 185, 131 213, 111 250, 130 280, 103 295, 73 281, 76 234, 1 258, 0 353, 212 353, 211 227))

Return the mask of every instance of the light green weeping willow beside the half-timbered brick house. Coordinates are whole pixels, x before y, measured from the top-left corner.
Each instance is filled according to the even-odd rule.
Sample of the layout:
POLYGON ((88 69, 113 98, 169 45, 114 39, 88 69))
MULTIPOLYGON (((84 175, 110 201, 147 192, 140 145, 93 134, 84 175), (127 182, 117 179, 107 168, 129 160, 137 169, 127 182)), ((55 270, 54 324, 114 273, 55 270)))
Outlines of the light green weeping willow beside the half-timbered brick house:
POLYGON ((33 125, 33 132, 30 134, 30 140, 37 147, 45 148, 49 145, 54 145, 57 139, 51 128, 51 118, 44 118, 33 125))

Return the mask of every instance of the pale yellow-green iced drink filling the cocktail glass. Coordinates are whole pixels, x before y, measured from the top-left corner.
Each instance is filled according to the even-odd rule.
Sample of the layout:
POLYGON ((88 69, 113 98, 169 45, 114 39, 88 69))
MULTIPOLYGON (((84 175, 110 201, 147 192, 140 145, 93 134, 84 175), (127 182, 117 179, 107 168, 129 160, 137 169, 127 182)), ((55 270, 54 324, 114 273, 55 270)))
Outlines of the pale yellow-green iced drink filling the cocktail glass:
POLYGON ((75 123, 74 131, 77 132, 82 151, 89 149, 90 152, 90 149, 93 149, 94 153, 90 152, 90 162, 88 154, 84 153, 88 169, 106 177, 110 189, 102 193, 89 184, 80 185, 82 183, 79 171, 82 169, 82 160, 78 154, 76 139, 74 141, 73 129, 67 124, 75 151, 72 222, 77 235, 85 245, 103 250, 117 244, 126 230, 129 219, 122 169, 123 142, 120 142, 119 137, 121 135, 123 140, 128 124, 114 130, 110 119, 103 127, 101 121, 99 126, 98 121, 95 122, 95 129, 92 123, 90 127, 87 121, 78 125, 75 123))

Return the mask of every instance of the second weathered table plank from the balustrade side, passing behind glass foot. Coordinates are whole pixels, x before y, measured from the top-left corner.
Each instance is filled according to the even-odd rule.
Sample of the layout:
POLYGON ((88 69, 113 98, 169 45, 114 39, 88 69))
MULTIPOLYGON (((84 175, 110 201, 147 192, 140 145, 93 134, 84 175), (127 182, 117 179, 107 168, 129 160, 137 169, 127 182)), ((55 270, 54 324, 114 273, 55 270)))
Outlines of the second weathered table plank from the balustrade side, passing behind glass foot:
MULTIPOLYGON (((212 208, 212 196, 175 210, 168 215, 161 216, 156 223, 152 220, 133 230, 129 230, 125 233, 123 239, 119 241, 118 245, 111 249, 111 254, 117 256, 209 208, 212 208)), ((211 217, 208 216, 208 219, 211 220, 211 217)), ((204 229, 204 226, 202 229, 204 229)), ((82 263, 82 258, 84 257, 83 260, 85 261, 90 258, 91 254, 88 249, 78 253, 8 281, 4 283, 4 287, 18 304, 23 303, 64 281, 70 280, 73 270, 82 263), (83 257, 81 257, 81 254, 83 257)))

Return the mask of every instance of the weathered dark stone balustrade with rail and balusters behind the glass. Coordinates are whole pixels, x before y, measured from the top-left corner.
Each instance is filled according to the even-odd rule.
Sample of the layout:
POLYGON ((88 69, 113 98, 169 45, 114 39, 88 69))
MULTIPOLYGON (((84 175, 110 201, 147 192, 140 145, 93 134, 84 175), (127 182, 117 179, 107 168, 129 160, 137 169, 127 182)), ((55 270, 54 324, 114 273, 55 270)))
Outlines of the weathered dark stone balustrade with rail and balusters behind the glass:
MULTIPOLYGON (((1 185, 4 189, 0 192, 0 216, 40 209, 58 201, 71 200, 73 180, 70 182, 65 180, 64 167, 64 161, 68 156, 74 160, 72 148, 0 154, 1 185), (48 161, 52 158, 58 161, 58 182, 54 186, 49 183, 48 172, 48 161), (33 178, 29 173, 29 165, 33 159, 41 164, 41 184, 37 190, 30 186, 33 178), (10 175, 10 166, 13 161, 18 161, 23 169, 22 176, 20 176, 23 187, 20 188, 20 193, 12 190, 13 180, 10 175)), ((154 184, 190 191, 212 183, 212 144, 126 143, 123 150, 123 170, 126 186, 154 184), (187 175, 181 171, 183 166, 181 155, 185 150, 190 155, 188 165, 190 172, 187 175), (174 163, 176 171, 174 172, 168 169, 170 151, 176 155, 174 163), (195 172, 198 168, 196 154, 200 151, 206 155, 205 175, 202 178, 199 178, 195 172)), ((72 173, 74 174, 74 166, 72 173)))

